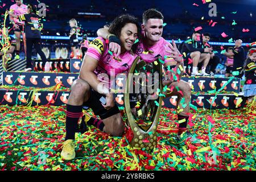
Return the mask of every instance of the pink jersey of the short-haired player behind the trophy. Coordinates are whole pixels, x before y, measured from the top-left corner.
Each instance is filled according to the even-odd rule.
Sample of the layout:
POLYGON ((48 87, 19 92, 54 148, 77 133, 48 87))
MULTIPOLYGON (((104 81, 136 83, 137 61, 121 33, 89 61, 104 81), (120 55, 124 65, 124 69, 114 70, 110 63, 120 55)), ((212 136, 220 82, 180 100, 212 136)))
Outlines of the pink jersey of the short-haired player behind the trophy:
POLYGON ((164 63, 168 63, 170 61, 174 61, 172 57, 169 57, 170 53, 166 52, 166 50, 171 51, 171 49, 167 46, 168 44, 170 43, 167 42, 167 40, 160 38, 158 43, 156 43, 154 46, 148 47, 141 40, 136 53, 141 57, 141 59, 146 61, 146 63, 152 63, 158 58, 158 56, 162 56, 164 63))

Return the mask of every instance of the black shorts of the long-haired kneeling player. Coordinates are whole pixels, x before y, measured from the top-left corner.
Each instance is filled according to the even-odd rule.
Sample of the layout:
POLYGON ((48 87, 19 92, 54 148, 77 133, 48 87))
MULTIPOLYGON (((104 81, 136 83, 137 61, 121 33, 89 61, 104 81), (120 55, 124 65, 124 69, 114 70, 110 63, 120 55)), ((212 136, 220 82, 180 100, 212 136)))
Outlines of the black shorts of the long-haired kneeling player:
POLYGON ((90 98, 88 101, 84 102, 83 106, 90 107, 93 110, 95 115, 98 115, 101 119, 106 119, 111 117, 112 115, 120 113, 117 104, 115 103, 114 107, 109 110, 106 110, 102 105, 100 98, 106 97, 103 94, 96 92, 93 89, 90 89, 90 98))

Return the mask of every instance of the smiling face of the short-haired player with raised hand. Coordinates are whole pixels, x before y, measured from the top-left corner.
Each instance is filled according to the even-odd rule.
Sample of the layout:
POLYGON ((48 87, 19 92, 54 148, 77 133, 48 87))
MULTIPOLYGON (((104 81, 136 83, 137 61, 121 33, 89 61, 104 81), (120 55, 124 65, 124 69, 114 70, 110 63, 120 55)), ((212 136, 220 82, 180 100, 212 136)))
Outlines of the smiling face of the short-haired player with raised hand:
POLYGON ((142 31, 145 32, 149 43, 155 44, 163 34, 163 19, 148 19, 146 24, 142 24, 142 31))

